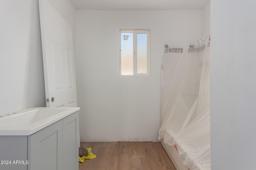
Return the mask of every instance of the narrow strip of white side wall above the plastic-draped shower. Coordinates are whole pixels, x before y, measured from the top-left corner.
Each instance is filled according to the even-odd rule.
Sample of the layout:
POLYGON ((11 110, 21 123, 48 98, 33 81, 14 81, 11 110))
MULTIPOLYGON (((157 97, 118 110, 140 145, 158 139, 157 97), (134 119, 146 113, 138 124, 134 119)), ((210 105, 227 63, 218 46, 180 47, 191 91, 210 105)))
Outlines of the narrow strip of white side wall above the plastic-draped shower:
POLYGON ((210 2, 202 9, 202 38, 210 35, 210 2))

